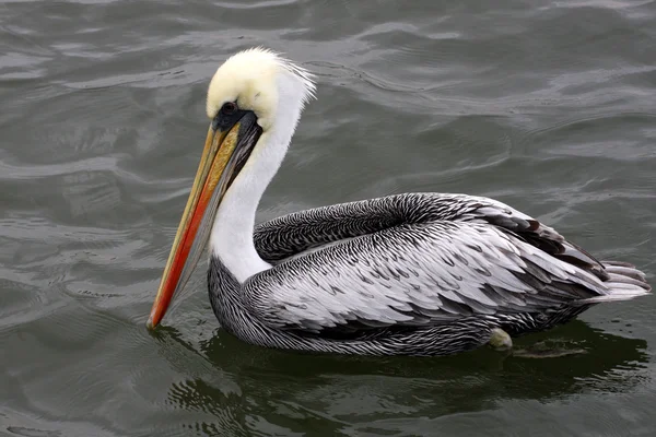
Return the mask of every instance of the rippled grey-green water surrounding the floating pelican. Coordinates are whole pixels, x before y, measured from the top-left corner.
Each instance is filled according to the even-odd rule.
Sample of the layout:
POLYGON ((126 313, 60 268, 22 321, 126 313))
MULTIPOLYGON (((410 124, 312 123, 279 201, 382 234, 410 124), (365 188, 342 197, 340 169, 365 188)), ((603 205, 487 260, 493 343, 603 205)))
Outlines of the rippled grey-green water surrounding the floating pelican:
POLYGON ((656 283, 656 3, 0 3, 0 435, 655 435, 653 296, 519 342, 583 355, 308 356, 222 332, 202 265, 145 330, 209 79, 260 44, 319 91, 258 220, 490 196, 656 283))

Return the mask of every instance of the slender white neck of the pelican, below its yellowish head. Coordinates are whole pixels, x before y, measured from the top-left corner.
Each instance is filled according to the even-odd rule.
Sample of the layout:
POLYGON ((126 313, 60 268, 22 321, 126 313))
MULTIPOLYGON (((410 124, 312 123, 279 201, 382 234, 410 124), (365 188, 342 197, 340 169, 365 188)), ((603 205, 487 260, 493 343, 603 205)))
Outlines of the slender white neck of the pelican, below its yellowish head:
POLYGON ((261 134, 246 165, 225 192, 210 236, 211 253, 239 283, 271 268, 255 250, 255 214, 282 164, 303 109, 303 87, 295 76, 282 74, 278 86, 277 122, 261 134))

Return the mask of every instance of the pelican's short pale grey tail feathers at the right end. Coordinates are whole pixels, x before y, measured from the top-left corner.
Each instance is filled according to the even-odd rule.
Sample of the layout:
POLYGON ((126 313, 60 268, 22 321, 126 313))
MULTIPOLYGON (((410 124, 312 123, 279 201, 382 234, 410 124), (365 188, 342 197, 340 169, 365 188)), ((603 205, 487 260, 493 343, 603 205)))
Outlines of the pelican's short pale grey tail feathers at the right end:
POLYGON ((629 300, 634 297, 647 295, 652 286, 646 281, 645 274, 634 265, 626 262, 601 261, 608 279, 605 281, 609 293, 578 300, 581 304, 595 304, 613 300, 629 300))

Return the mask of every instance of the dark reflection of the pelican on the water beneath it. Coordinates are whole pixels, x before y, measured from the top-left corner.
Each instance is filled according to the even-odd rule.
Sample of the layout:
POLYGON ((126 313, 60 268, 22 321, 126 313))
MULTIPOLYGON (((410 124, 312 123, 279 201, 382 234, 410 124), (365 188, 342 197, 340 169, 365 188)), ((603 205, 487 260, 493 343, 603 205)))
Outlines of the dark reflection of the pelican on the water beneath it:
POLYGON ((251 346, 221 330, 200 346, 173 329, 161 332, 210 369, 168 392, 176 408, 211 417, 189 424, 203 435, 371 432, 373 422, 481 411, 505 400, 632 391, 647 377, 646 341, 578 320, 516 344, 563 339, 585 353, 538 359, 484 349, 446 358, 307 355, 251 346))

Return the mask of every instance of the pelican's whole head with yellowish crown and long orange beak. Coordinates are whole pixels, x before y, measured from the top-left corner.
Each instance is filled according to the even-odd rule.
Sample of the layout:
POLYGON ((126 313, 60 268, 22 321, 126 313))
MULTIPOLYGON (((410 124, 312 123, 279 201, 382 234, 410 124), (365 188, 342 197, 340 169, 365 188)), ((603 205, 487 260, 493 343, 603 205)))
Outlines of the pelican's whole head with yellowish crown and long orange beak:
POLYGON ((149 328, 162 320, 173 296, 190 277, 226 190, 255 155, 281 160, 314 92, 312 74, 267 49, 241 51, 219 67, 208 90, 211 122, 204 150, 149 328), (271 150, 277 153, 267 153, 271 150))

